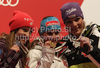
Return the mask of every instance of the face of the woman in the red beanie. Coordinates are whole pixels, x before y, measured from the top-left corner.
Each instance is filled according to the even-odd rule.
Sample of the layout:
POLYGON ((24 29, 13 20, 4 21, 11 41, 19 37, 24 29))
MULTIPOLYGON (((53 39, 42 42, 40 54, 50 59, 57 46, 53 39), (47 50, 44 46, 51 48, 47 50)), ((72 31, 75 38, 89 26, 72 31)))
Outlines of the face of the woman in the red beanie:
POLYGON ((30 27, 21 27, 15 35, 15 40, 19 40, 23 44, 26 44, 31 36, 31 30, 30 27))

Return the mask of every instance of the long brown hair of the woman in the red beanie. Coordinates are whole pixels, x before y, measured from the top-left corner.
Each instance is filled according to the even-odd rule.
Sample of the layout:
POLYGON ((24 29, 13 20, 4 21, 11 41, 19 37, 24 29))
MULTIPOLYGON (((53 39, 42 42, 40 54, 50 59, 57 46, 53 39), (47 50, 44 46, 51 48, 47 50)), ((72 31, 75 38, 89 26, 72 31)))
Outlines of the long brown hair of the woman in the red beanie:
MULTIPOLYGON (((15 40, 15 34, 17 33, 18 30, 19 29, 15 29, 15 30, 11 31, 9 34, 1 33, 0 38, 5 38, 6 39, 6 44, 7 44, 8 51, 10 50, 10 48, 14 45, 14 42, 16 41, 15 40)), ((30 45, 29 40, 26 42, 25 46, 28 49, 31 49, 31 45, 30 45)), ((23 56, 23 66, 24 66, 24 65, 26 65, 27 55, 23 53, 22 56, 23 56)))

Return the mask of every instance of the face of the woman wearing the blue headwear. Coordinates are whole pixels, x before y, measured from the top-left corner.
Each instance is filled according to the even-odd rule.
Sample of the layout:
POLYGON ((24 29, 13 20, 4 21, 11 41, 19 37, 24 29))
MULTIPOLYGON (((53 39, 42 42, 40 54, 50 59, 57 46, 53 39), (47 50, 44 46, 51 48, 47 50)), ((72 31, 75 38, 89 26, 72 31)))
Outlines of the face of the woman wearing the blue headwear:
POLYGON ((50 30, 48 32, 43 33, 42 37, 44 41, 52 41, 54 43, 57 43, 60 39, 60 31, 50 30))

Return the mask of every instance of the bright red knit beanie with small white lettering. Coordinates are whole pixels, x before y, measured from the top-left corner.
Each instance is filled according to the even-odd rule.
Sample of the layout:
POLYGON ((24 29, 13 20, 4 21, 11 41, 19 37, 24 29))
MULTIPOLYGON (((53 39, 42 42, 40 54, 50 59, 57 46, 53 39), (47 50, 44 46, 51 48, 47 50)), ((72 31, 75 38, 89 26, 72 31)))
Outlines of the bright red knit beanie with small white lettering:
POLYGON ((21 11, 14 11, 13 17, 9 22, 10 32, 24 26, 33 28, 33 22, 33 19, 28 14, 21 11))

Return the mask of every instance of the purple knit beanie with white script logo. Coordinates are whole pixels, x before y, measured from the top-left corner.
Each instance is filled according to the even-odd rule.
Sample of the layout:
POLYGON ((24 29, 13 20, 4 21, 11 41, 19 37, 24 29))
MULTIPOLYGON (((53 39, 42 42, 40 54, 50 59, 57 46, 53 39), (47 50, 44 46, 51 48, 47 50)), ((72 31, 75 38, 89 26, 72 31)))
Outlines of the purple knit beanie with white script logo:
POLYGON ((60 10, 61 10, 61 16, 62 16, 64 24, 66 20, 70 18, 80 16, 84 19, 83 12, 79 6, 79 3, 77 2, 66 3, 61 7, 60 10))

